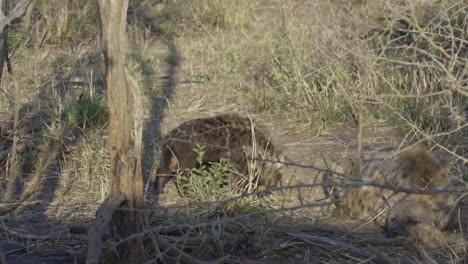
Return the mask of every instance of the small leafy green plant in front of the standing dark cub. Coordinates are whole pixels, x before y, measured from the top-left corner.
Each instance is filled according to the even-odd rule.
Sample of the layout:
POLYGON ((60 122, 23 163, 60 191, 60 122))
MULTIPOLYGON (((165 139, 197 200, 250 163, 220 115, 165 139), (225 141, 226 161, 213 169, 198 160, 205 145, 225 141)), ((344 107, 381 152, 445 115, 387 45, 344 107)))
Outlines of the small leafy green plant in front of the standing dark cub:
POLYGON ((226 194, 227 177, 231 165, 226 159, 219 162, 205 163, 205 148, 196 145, 193 151, 197 154, 198 167, 179 171, 177 185, 179 191, 185 196, 198 201, 210 201, 223 198, 226 194))

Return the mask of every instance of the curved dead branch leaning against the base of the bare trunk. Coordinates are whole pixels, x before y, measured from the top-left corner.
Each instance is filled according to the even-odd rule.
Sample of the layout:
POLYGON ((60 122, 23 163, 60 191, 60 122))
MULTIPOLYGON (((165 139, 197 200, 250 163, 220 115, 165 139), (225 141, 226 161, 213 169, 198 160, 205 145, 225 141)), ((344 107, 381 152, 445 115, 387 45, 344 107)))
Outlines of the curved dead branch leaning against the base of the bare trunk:
POLYGON ((86 263, 100 263, 104 233, 112 220, 112 215, 126 200, 123 193, 111 193, 96 212, 96 220, 88 230, 88 257, 86 263))

